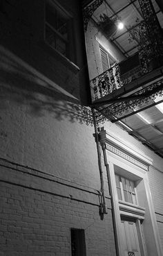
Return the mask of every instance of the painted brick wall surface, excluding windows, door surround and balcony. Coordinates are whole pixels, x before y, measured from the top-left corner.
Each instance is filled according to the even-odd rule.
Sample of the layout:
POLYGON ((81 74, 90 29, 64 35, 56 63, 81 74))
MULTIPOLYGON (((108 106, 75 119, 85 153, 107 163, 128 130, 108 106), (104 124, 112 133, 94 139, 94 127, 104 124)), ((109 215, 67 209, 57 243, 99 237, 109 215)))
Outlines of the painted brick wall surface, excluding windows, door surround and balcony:
MULTIPOLYGON (((85 230, 88 256, 114 256, 106 171, 108 214, 102 220, 94 129, 90 110, 81 105, 88 101, 89 85, 77 1, 63 4, 75 17, 79 69, 44 44, 44 1, 4 3, 4 11, 0 10, 0 256, 70 255, 70 228, 85 230)), ((160 157, 113 123, 105 126, 153 158, 153 165, 161 170, 160 157)), ((149 175, 153 200, 159 199, 155 211, 161 214, 162 173, 149 175)), ((162 237, 162 223, 159 229, 162 237)))

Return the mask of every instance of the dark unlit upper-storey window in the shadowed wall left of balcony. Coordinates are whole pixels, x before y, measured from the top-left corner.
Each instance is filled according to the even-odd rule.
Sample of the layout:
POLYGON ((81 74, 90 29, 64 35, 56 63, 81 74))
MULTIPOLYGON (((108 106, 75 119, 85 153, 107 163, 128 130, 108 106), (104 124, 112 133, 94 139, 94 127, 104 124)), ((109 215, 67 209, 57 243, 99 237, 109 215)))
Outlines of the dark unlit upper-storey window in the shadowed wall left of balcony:
POLYGON ((53 1, 46 1, 45 40, 66 58, 70 56, 70 39, 72 37, 72 19, 63 8, 53 1), (71 29, 70 29, 71 26, 71 29))

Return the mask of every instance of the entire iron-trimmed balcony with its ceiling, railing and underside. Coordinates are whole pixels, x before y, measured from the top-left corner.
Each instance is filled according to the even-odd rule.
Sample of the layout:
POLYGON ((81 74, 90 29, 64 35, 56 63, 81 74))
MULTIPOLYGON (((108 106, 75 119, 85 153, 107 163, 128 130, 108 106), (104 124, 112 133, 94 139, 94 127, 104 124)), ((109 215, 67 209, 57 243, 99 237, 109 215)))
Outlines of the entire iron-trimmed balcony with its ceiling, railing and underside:
MULTIPOLYGON (((83 2, 84 30, 91 38, 92 46, 96 44, 94 37, 89 37, 89 31, 95 26, 103 35, 99 44, 109 54, 113 49, 110 46, 116 46, 125 58, 123 63, 115 63, 114 67, 111 60, 110 69, 101 69, 101 65, 97 65, 99 57, 94 53, 95 48, 88 49, 88 60, 95 58, 98 68, 93 74, 104 71, 90 80, 91 108, 96 110, 97 123, 107 119, 117 123, 163 157, 163 14, 160 2, 83 2), (122 31, 111 26, 116 20, 124 22, 122 31), (109 40, 109 46, 106 41, 103 44, 104 37, 109 40)), ((115 61, 124 59, 115 57, 115 61)), ((91 66, 90 74, 92 69, 91 66)))

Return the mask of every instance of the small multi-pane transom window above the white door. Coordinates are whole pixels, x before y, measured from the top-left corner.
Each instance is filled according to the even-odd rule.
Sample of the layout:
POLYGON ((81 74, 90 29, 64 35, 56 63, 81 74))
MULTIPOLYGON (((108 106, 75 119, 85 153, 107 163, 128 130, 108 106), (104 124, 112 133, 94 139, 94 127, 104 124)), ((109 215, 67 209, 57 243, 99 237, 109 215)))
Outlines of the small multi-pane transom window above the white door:
POLYGON ((137 205, 135 183, 124 177, 115 175, 117 196, 119 200, 137 205))

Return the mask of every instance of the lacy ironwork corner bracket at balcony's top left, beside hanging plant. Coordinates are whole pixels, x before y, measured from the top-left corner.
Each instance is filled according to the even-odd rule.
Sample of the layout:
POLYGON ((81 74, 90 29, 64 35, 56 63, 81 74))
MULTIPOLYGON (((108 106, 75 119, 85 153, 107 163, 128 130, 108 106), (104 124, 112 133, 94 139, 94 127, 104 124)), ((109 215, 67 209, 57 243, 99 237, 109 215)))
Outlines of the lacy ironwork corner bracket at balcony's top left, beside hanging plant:
POLYGON ((93 12, 101 6, 104 0, 95 0, 93 3, 91 3, 89 6, 86 6, 86 8, 83 9, 83 17, 84 17, 84 31, 86 32, 88 22, 90 20, 90 17, 93 15, 93 12))

